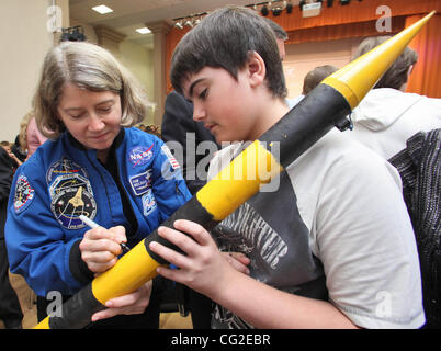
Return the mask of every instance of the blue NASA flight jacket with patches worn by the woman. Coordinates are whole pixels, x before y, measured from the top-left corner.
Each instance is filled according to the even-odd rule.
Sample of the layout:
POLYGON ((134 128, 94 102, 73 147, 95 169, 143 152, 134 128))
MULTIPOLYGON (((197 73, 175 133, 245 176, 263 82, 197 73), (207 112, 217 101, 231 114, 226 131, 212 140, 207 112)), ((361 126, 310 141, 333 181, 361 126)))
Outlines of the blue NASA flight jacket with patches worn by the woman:
POLYGON ((97 150, 84 149, 67 132, 16 170, 5 225, 10 269, 37 295, 72 295, 92 279, 78 247, 89 230, 79 215, 105 228, 135 228, 127 237, 133 247, 190 200, 179 165, 156 136, 122 128, 112 152, 117 182, 97 150), (126 216, 128 203, 135 224, 126 216))

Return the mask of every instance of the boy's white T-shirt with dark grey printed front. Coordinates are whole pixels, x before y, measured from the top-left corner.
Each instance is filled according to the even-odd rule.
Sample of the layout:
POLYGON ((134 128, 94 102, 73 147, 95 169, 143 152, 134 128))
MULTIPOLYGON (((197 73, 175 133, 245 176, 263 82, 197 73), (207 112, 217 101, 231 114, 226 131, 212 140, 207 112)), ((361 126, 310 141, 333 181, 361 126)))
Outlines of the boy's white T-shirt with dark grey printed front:
MULTIPOLYGON (((220 150, 208 179, 240 147, 220 150)), ((331 131, 278 181, 274 192, 259 192, 213 230, 222 249, 246 253, 252 278, 327 298, 360 327, 425 322, 418 253, 395 168, 331 131)), ((216 306, 213 327, 251 326, 216 306)))

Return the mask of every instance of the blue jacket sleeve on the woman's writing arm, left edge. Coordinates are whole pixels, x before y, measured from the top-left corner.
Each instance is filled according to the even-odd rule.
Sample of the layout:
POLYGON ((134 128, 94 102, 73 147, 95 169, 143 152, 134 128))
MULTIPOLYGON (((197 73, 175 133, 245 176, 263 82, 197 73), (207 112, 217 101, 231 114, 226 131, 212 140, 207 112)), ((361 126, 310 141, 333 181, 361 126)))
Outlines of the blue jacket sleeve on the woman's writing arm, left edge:
POLYGON ((26 161, 12 183, 5 224, 10 269, 39 296, 49 291, 71 295, 81 288, 69 269, 79 238, 65 235, 54 218, 45 174, 37 167, 36 161, 26 161))

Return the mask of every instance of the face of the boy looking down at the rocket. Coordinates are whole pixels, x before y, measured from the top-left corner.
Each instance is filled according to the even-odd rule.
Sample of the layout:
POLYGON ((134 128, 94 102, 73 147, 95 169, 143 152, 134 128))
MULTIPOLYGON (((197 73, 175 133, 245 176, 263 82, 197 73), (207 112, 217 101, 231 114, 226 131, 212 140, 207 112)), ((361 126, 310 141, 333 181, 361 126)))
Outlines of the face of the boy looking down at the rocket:
POLYGON ((251 79, 247 69, 235 80, 223 68, 205 67, 182 84, 185 98, 193 102, 193 120, 203 122, 217 143, 260 136, 256 128, 259 102, 251 79))

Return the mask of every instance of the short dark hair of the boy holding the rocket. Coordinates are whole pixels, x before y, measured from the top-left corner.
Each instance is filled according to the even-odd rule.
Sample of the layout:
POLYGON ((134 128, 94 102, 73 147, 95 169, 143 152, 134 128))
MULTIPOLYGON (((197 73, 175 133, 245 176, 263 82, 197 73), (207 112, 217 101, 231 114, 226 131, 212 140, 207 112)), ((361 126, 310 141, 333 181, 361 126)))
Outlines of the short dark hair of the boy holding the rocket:
POLYGON ((171 59, 171 83, 183 93, 182 82, 206 66, 224 68, 237 79, 251 52, 258 53, 265 64, 267 86, 272 94, 285 98, 285 78, 274 32, 255 11, 242 7, 215 10, 184 35, 171 59))

